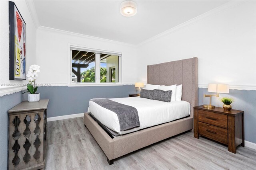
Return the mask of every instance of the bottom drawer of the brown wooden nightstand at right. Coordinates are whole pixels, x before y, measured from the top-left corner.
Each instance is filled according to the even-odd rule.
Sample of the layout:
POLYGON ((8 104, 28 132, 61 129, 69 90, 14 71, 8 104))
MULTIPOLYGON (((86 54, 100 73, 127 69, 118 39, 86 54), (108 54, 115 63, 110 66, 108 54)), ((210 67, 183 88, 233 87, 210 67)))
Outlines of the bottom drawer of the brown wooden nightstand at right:
POLYGON ((209 125, 206 123, 198 122, 198 133, 220 143, 228 145, 228 130, 209 125))

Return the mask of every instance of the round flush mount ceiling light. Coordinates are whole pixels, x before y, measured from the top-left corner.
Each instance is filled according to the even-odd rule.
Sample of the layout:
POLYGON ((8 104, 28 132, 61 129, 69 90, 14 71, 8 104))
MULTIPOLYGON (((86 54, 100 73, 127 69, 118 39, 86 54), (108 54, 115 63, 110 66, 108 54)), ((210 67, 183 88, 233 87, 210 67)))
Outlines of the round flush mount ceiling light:
POLYGON ((120 5, 120 13, 123 16, 131 17, 137 13, 137 5, 135 2, 127 0, 120 5))

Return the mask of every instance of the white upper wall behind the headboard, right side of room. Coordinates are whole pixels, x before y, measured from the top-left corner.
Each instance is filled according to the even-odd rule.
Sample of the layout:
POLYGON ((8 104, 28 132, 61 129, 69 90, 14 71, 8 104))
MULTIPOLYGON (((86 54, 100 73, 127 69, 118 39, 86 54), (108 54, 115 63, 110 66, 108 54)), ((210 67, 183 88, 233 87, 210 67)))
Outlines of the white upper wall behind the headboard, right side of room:
POLYGON ((255 18, 255 1, 244 2, 142 43, 137 80, 146 82, 147 65, 198 57, 199 85, 255 87, 255 18))

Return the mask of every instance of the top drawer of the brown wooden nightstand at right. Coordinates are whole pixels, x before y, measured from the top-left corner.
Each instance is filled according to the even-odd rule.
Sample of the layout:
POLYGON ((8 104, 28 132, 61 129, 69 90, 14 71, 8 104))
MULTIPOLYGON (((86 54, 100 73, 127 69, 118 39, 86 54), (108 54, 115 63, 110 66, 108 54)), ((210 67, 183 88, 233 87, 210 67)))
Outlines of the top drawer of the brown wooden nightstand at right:
POLYGON ((228 129, 228 117, 224 114, 198 110, 198 121, 228 129))

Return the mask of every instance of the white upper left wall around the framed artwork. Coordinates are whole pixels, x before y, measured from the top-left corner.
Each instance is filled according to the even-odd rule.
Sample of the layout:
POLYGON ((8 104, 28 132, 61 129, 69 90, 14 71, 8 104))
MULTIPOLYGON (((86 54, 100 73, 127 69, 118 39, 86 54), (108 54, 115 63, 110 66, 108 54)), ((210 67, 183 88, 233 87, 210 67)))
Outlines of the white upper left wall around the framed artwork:
MULTIPOLYGON (((22 18, 26 22, 26 68, 36 64, 36 27, 34 26, 25 1, 14 1, 22 18)), ((0 34, 0 83, 27 83, 27 80, 9 80, 9 1, 1 0, 1 34, 0 34)), ((1 86, 2 88, 3 86, 1 86)))

